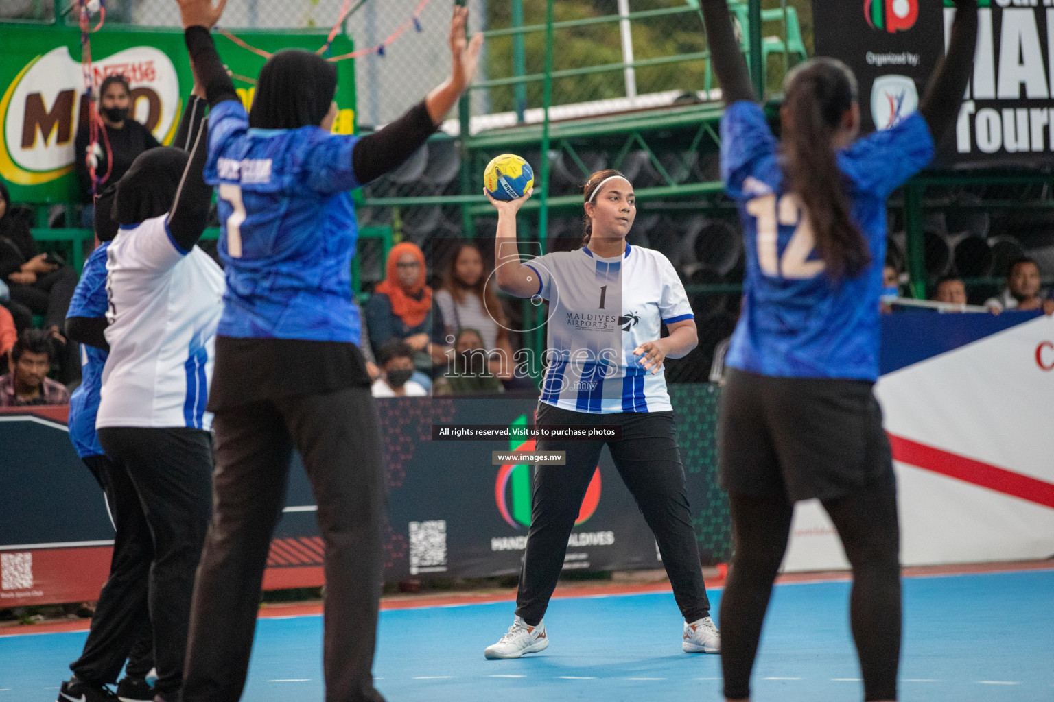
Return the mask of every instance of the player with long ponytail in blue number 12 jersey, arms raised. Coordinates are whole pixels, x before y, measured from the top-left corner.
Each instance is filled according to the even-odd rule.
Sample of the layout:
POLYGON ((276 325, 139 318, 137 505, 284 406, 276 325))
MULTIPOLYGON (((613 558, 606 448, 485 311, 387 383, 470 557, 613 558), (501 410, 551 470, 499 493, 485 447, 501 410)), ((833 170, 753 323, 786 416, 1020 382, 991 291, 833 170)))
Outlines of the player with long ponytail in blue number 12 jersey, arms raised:
MULTIPOLYGON (((885 200, 955 125, 973 68, 977 0, 955 0, 948 56, 917 114, 857 139, 852 72, 816 59, 792 72, 778 141, 756 103, 726 0, 703 0, 727 105, 721 172, 746 238, 743 312, 719 428, 735 559, 721 600, 724 694, 749 699, 750 669, 794 503, 818 498, 853 565, 851 619, 864 700, 895 700, 899 527, 878 377, 885 200)), ((932 37, 940 41, 940 37, 932 37)))

